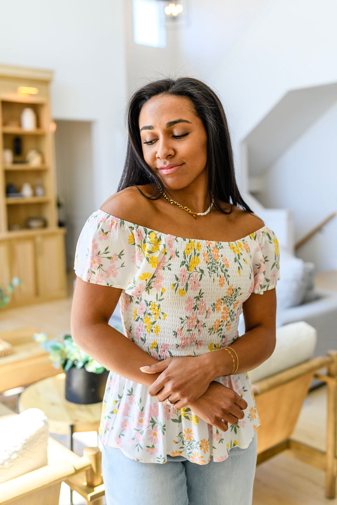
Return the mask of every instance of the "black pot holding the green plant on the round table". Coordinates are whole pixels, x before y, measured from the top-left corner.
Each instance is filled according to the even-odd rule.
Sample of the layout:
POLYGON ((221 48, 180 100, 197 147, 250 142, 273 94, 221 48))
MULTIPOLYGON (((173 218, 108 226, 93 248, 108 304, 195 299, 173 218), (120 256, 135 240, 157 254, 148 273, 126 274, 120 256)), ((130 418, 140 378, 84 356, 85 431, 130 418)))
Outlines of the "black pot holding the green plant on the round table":
POLYGON ((66 372, 66 400, 73 403, 98 403, 103 400, 109 371, 102 374, 72 367, 66 372))

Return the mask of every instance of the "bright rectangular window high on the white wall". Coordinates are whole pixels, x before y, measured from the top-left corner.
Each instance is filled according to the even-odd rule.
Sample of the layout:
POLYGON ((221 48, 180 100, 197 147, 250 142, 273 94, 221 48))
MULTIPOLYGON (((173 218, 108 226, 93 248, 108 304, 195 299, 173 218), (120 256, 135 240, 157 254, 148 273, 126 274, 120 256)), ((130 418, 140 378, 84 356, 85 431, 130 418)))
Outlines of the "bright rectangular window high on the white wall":
POLYGON ((164 8, 158 0, 133 0, 133 40, 136 44, 166 47, 164 8))

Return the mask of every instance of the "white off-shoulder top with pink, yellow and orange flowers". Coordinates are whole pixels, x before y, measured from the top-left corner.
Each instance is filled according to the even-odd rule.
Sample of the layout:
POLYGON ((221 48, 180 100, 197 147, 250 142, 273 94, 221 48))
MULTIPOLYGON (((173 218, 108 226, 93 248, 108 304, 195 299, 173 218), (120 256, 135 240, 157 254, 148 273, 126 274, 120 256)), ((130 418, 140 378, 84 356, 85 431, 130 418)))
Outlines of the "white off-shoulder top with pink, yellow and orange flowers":
MULTIPOLYGON (((251 293, 273 289, 279 248, 263 226, 233 242, 176 237, 99 209, 78 238, 75 273, 95 284, 122 289, 125 336, 157 360, 198 356, 237 337, 242 305, 251 293)), ((133 460, 165 463, 167 455, 205 465, 224 461, 232 447, 246 448, 259 427, 247 373, 215 379, 245 398, 248 408, 226 432, 188 407, 175 411, 148 387, 110 372, 100 437, 133 460)))

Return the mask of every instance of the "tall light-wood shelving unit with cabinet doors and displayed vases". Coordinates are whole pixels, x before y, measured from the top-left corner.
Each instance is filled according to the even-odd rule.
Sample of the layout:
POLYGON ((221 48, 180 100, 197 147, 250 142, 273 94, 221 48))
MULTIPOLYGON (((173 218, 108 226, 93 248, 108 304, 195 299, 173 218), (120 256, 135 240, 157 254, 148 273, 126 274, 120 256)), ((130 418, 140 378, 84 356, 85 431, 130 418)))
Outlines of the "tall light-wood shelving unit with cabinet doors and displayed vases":
POLYGON ((66 292, 65 233, 58 226, 54 134, 51 128, 50 83, 53 72, 0 65, 0 287, 13 277, 22 280, 8 307, 60 298, 66 292), (20 87, 32 93, 22 94, 20 87), (28 90, 29 91, 29 90, 28 90), (34 130, 21 127, 24 108, 33 109, 37 117, 34 130), (16 140, 15 140, 16 139, 16 140), (13 164, 4 163, 4 149, 21 143, 21 153, 13 164), (38 166, 27 163, 27 154, 37 149, 42 155, 38 166), (44 195, 8 196, 6 188, 33 188, 40 180, 44 195), (46 226, 31 229, 27 219, 42 217, 46 226))

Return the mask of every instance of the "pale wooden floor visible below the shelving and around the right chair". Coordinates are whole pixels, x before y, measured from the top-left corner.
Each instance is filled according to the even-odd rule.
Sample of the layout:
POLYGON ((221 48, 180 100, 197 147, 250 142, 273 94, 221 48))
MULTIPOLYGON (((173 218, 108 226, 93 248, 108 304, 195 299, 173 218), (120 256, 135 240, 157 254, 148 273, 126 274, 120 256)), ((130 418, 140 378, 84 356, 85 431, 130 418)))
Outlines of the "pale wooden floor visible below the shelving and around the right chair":
MULTIPOLYGON (((70 272, 68 298, 0 311, 0 331, 31 326, 39 332, 43 331, 55 336, 70 332, 73 278, 74 274, 70 272)), ((294 438, 316 447, 324 447, 325 412, 325 389, 322 387, 309 394, 294 438)), ((337 505, 337 498, 333 500, 324 498, 324 472, 293 459, 286 452, 257 468, 253 505, 322 505, 323 503, 337 505)))

